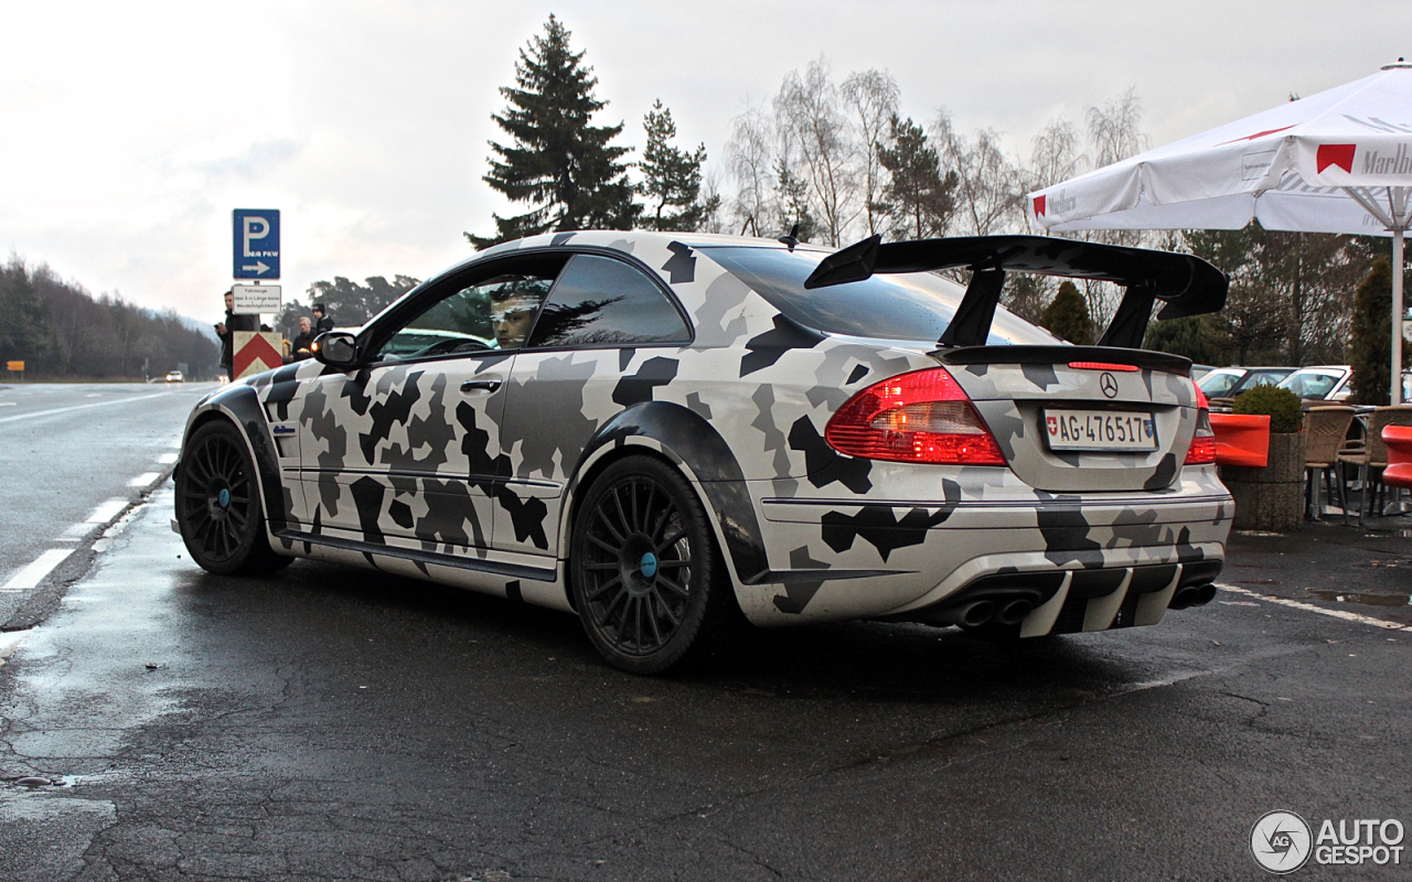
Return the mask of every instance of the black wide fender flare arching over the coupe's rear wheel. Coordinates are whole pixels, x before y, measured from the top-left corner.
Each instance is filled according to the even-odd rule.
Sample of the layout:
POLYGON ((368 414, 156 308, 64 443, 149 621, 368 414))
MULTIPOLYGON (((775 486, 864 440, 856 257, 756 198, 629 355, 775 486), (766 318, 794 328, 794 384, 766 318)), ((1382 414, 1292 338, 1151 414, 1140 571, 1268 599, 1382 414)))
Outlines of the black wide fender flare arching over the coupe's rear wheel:
MULTIPOLYGON (((736 454, 700 413, 679 404, 637 404, 599 426, 579 457, 565 500, 576 498, 583 476, 593 471, 597 461, 633 446, 672 460, 698 490, 702 502, 716 515, 716 539, 729 557, 737 586, 750 584, 770 569, 760 519, 736 454)), ((565 505, 561 515, 559 535, 565 542, 559 548, 563 549, 569 548, 570 508, 565 505)))

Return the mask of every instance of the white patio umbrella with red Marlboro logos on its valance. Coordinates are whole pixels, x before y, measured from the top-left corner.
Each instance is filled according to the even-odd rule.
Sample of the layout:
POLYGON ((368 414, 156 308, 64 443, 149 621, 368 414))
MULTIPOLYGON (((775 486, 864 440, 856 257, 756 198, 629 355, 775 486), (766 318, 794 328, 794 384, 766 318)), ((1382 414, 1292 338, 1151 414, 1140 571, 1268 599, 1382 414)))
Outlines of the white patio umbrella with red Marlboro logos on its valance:
POLYGON ((1402 384, 1402 237, 1412 188, 1412 64, 1289 102, 1029 193, 1069 230, 1392 236, 1392 404, 1402 384))

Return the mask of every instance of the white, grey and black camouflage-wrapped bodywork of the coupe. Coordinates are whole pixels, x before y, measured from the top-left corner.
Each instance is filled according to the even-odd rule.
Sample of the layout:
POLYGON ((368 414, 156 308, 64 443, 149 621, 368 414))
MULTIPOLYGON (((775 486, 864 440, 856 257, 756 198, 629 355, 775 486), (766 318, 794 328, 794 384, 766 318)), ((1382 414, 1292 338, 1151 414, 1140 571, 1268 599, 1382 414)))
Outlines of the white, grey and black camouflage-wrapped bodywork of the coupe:
MULTIPOLYGON (((261 480, 278 474, 278 488, 263 490, 281 553, 561 610, 570 610, 573 500, 600 466, 631 452, 666 457, 698 490, 740 607, 760 625, 899 615, 987 576, 1034 572, 1060 574, 1063 587, 1025 620, 1027 635, 1048 632, 1066 603, 1087 604, 1076 614, 1083 629, 1104 629, 1138 579, 1131 567, 1223 560, 1230 494, 1214 466, 1182 466, 1197 415, 1189 378, 952 366, 1010 467, 842 456, 823 440, 834 411, 880 380, 938 367, 935 347, 802 329, 698 250, 716 244, 774 247, 592 231, 473 258, 617 254, 671 291, 690 318, 689 344, 487 351, 349 373, 301 361, 202 401, 188 433, 225 415, 257 459, 273 452, 261 480), (1111 381, 1100 391, 1104 375, 1115 392, 1111 381), (498 385, 463 392, 469 380, 498 385), (264 439, 246 413, 254 401, 264 439), (1051 452, 1042 408, 1094 401, 1151 411, 1159 449, 1051 452), (1111 572, 1117 587, 1066 601, 1070 573, 1082 572, 1111 572)), ((1161 590, 1128 598, 1128 608, 1141 601, 1137 621, 1120 624, 1161 618, 1180 567, 1161 590)))

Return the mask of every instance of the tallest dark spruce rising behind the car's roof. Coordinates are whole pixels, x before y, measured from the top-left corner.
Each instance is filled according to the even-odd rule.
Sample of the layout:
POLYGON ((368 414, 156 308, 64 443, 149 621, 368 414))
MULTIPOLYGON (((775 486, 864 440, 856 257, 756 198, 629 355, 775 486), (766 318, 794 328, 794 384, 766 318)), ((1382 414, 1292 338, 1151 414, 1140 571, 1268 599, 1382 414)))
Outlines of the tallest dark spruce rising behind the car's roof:
POLYGON ((494 155, 484 181, 532 207, 514 217, 493 215, 491 237, 466 233, 477 248, 551 230, 631 229, 641 206, 633 202, 621 161, 630 148, 610 144, 623 124, 589 124, 607 102, 593 96, 599 80, 582 62, 583 51, 570 51, 569 31, 554 16, 544 37, 520 49, 518 87, 501 87, 508 106, 491 114, 513 141, 490 143, 494 155))

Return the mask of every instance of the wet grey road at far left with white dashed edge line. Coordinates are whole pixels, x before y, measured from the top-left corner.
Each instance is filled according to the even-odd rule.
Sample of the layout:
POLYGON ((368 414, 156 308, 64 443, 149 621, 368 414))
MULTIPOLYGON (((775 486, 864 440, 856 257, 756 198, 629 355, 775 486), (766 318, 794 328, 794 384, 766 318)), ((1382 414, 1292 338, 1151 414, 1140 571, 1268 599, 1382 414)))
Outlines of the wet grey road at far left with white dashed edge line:
MULTIPOLYGON (((212 388, 0 385, 0 586, 66 549, 75 553, 49 580, 76 577, 88 566, 88 540, 171 470, 186 413, 212 388)), ((0 625, 37 621, 45 610, 35 600, 31 590, 0 587, 0 625)))

